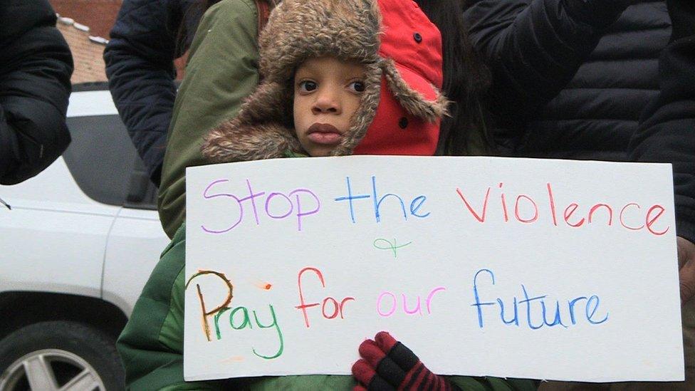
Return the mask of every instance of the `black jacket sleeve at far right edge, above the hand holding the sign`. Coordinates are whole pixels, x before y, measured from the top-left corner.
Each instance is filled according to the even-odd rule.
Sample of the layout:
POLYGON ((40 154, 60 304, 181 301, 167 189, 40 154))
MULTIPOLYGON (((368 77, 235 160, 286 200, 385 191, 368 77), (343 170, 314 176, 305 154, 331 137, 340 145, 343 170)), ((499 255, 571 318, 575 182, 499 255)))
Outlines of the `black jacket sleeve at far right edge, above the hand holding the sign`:
POLYGON ((667 0, 672 43, 659 58, 657 98, 629 145, 632 160, 671 162, 676 234, 695 243, 695 2, 667 0))

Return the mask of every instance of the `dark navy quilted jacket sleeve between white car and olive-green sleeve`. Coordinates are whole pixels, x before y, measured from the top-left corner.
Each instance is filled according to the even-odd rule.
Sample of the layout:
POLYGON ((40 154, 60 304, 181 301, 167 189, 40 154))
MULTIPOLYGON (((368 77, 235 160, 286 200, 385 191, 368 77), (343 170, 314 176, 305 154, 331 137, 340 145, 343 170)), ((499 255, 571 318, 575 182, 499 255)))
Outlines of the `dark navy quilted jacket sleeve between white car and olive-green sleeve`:
POLYGON ((199 3, 124 0, 104 51, 116 108, 157 186, 176 97, 174 59, 193 38, 202 13, 199 3), (181 44, 179 36, 185 37, 181 44))

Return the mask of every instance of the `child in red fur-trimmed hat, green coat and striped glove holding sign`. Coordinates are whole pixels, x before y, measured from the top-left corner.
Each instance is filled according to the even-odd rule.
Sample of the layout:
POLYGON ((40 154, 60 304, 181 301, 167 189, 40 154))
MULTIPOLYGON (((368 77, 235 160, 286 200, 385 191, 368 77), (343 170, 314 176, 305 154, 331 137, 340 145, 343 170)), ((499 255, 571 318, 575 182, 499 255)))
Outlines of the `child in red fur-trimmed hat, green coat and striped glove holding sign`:
MULTIPOLYGON (((434 153, 446 105, 438 92, 441 37, 413 1, 286 0, 271 14, 259 43, 263 82, 236 118, 207 137, 202 150, 212 160, 434 153)), ((182 377, 184 234, 179 229, 162 254, 119 339, 127 382, 134 389, 348 390, 356 380, 370 389, 389 383, 390 389, 422 387, 427 380, 441 390, 454 384, 496 385, 495 380, 432 375, 386 333, 360 346, 365 360, 355 363, 354 378, 311 375, 187 384, 182 377), (380 365, 384 358, 404 365, 384 372, 394 369, 380 365)))

